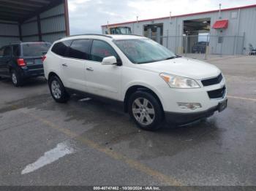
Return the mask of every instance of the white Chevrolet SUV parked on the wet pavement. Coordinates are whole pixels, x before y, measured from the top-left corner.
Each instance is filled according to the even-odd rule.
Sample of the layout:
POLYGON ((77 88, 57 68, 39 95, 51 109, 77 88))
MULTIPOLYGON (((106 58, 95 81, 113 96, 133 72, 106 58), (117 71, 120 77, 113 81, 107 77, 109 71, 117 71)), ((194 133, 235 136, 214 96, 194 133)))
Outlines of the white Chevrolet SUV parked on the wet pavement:
POLYGON ((143 36, 69 36, 54 42, 43 61, 55 101, 86 93, 121 102, 146 130, 165 121, 184 125, 227 106, 216 66, 178 57, 143 36))

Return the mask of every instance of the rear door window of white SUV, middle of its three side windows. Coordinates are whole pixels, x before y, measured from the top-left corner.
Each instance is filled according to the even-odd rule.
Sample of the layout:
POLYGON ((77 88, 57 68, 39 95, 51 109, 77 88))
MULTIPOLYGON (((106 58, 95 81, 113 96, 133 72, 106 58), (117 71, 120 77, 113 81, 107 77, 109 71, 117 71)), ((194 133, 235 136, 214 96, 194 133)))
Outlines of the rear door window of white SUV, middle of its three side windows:
POLYGON ((90 39, 74 40, 69 48, 69 57, 89 60, 90 39))

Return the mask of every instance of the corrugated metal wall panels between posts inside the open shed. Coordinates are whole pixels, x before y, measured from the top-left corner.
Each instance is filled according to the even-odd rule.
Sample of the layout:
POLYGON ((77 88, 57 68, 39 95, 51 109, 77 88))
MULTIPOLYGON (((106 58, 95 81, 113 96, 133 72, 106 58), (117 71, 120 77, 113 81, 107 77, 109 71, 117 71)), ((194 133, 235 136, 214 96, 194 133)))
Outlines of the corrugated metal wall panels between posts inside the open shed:
POLYGON ((0 20, 0 47, 10 44, 10 42, 19 41, 20 37, 23 42, 34 42, 40 40, 39 34, 41 34, 42 41, 54 42, 67 36, 69 28, 66 29, 65 13, 67 13, 65 12, 65 4, 59 4, 39 14, 40 28, 37 23, 37 16, 34 16, 20 25, 20 32, 18 23, 0 20))

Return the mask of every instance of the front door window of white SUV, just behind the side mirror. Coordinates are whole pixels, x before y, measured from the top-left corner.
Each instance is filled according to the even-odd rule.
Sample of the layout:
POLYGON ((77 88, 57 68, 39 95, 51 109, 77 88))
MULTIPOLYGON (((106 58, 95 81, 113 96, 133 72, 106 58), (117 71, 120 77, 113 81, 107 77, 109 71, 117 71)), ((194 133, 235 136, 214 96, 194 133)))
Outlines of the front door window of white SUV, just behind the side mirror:
POLYGON ((94 40, 91 46, 91 61, 102 62, 103 58, 115 56, 118 59, 116 51, 107 42, 94 40))

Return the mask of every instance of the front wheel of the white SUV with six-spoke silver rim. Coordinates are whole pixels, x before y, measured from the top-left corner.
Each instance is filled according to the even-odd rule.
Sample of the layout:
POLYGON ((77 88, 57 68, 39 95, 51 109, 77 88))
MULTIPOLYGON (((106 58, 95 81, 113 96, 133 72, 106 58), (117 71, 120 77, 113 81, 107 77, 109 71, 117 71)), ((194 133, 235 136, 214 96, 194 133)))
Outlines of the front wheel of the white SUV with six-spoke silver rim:
POLYGON ((128 101, 128 112, 132 120, 143 130, 157 130, 162 127, 164 121, 162 106, 151 93, 146 91, 133 93, 128 101))

